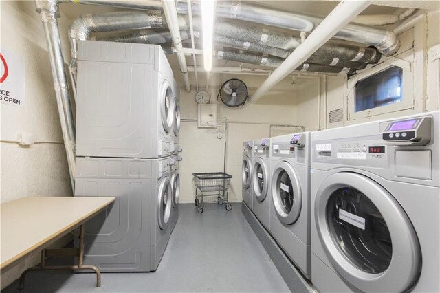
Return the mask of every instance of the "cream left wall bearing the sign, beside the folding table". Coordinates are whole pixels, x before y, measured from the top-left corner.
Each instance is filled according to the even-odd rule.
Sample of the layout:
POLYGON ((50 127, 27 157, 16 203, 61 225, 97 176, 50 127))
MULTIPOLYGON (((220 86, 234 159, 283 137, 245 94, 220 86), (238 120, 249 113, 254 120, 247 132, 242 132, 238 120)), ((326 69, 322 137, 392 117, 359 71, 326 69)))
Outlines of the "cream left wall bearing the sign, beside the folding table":
MULTIPOLYGON (((63 136, 43 24, 34 1, 1 1, 1 50, 23 58, 25 107, 0 104, 0 191, 1 202, 21 197, 72 196, 63 136), (17 140, 19 133, 32 133, 29 147, 17 140), (51 143, 47 143, 51 142, 51 143)), ((59 19, 63 32, 69 20, 59 19)), ((67 33, 62 34, 65 56, 69 56, 67 33)), ((1 274, 1 289, 17 279, 25 268, 39 263, 39 252, 1 274)))

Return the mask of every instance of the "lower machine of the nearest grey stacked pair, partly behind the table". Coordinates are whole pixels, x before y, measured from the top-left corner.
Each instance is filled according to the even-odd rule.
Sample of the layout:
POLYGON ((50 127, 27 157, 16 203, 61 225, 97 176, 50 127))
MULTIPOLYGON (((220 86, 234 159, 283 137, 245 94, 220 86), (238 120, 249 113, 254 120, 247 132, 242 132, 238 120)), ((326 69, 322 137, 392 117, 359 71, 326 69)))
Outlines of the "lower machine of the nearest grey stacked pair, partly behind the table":
POLYGON ((102 272, 156 270, 170 234, 169 160, 76 158, 75 196, 116 198, 85 224, 85 264, 102 272))

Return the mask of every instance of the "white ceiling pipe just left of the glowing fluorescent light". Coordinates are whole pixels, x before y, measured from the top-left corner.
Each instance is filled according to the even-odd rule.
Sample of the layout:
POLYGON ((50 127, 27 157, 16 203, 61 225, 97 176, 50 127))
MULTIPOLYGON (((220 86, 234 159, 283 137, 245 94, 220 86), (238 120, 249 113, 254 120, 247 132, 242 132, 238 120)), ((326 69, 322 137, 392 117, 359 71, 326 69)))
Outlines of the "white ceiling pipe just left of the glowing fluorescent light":
POLYGON ((185 88, 189 93, 191 91, 190 78, 188 76, 185 54, 181 52, 182 45, 176 5, 174 0, 162 0, 162 3, 164 4, 165 18, 168 22, 168 28, 170 29, 171 36, 173 36, 173 43, 177 50, 177 61, 179 62, 181 74, 184 76, 185 88))

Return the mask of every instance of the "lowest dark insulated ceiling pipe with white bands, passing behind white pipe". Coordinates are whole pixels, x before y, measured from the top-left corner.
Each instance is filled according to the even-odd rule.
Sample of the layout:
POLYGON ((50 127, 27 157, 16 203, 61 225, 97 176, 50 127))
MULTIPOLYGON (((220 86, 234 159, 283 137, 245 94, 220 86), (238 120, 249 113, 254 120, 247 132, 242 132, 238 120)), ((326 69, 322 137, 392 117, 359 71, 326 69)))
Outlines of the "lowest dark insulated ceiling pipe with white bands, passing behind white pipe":
MULTIPOLYGON (((264 56, 262 54, 254 54, 252 52, 244 52, 242 50, 219 50, 216 52, 218 59, 224 59, 229 61, 243 62, 254 65, 268 66, 268 67, 278 67, 285 59, 275 57, 275 56, 264 56)), ((347 67, 338 67, 330 65, 322 65, 311 63, 311 58, 307 60, 307 63, 298 65, 298 67, 293 70, 300 70, 303 72, 329 72, 336 74, 354 74, 355 69, 347 67)))

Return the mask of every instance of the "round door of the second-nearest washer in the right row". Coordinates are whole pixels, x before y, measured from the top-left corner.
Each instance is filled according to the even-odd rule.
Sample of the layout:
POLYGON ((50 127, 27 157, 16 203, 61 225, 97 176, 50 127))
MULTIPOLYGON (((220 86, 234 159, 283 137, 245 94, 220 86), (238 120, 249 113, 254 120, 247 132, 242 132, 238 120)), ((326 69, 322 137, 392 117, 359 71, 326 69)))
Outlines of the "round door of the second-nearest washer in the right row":
POLYGON ((291 164, 281 161, 275 165, 271 186, 276 216, 284 224, 294 224, 301 213, 303 196, 291 164))

